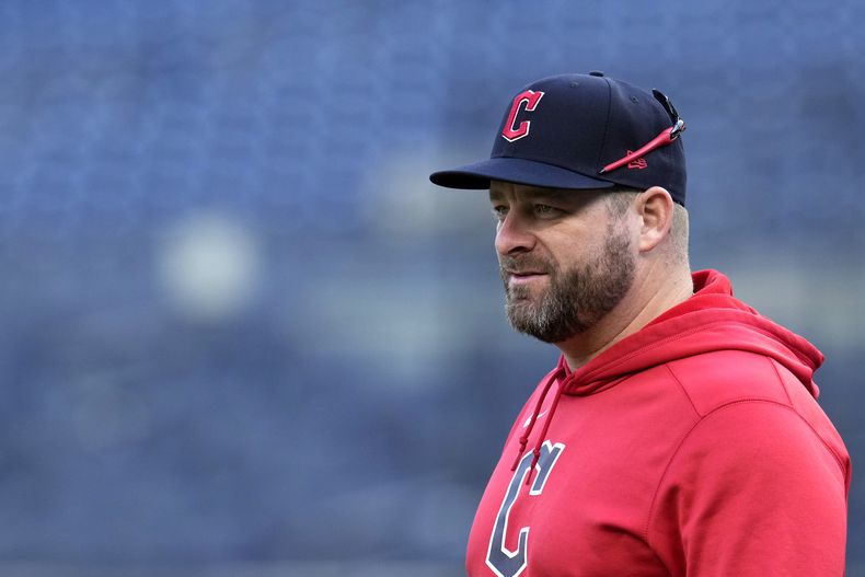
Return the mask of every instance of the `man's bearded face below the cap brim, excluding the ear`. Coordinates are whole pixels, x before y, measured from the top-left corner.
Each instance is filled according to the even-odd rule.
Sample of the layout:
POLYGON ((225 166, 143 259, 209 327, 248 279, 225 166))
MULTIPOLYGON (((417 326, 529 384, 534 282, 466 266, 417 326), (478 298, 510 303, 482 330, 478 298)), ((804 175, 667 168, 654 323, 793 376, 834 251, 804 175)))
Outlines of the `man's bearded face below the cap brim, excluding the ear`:
POLYGON ((496 252, 515 330, 561 343, 595 326, 630 290, 633 243, 604 195, 492 183, 496 252))

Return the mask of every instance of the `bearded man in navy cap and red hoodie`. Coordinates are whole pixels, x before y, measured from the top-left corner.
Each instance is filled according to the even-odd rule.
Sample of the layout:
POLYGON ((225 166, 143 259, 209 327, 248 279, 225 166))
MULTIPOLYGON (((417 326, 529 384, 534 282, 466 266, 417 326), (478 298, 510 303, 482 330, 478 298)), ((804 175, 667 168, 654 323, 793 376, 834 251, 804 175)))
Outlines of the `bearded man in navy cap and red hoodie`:
POLYGON ((562 355, 507 438, 472 576, 841 576, 847 451, 822 355, 688 263, 684 123, 590 74, 509 103, 489 188, 511 325, 562 355))

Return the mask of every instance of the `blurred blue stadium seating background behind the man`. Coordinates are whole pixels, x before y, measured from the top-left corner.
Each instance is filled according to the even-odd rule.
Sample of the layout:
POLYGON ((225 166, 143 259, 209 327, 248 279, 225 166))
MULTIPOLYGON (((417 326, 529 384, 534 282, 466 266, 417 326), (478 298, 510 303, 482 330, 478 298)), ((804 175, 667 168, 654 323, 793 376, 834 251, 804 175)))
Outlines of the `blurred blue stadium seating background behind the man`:
POLYGON ((855 0, 4 0, 0 575, 461 574, 555 354, 503 318, 485 195, 427 174, 564 71, 671 96, 693 266, 823 350, 861 471, 863 22, 855 0))

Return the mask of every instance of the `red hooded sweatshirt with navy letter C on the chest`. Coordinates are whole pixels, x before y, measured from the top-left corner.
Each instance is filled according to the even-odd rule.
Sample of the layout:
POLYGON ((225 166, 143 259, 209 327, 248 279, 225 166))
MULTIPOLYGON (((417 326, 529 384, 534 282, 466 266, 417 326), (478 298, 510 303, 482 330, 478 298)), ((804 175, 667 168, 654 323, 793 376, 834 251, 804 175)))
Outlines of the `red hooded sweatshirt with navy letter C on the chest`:
POLYGON ((822 355, 719 273, 693 279, 691 299, 541 381, 478 506, 469 575, 843 575, 851 465, 816 402, 822 355))

